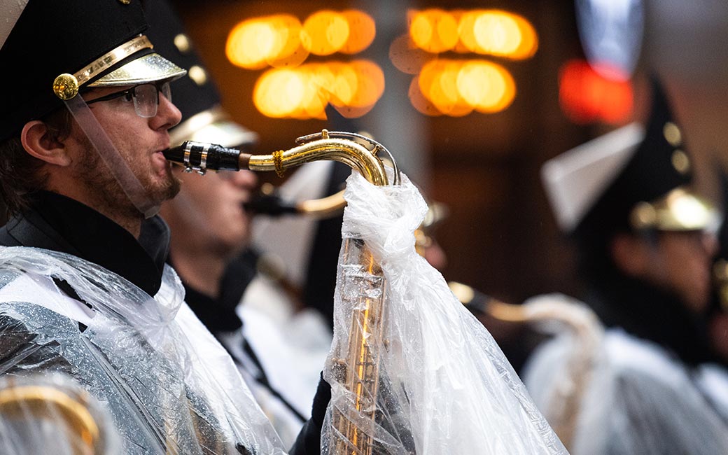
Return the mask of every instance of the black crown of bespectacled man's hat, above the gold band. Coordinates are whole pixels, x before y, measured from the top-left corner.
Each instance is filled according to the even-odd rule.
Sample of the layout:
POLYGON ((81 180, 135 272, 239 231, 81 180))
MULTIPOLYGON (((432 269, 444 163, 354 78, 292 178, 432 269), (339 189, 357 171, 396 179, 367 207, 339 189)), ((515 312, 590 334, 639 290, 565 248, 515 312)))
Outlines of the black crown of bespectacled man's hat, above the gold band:
POLYGON ((145 30, 137 0, 28 1, 0 49, 0 141, 63 106, 52 90, 56 76, 74 74, 145 30))

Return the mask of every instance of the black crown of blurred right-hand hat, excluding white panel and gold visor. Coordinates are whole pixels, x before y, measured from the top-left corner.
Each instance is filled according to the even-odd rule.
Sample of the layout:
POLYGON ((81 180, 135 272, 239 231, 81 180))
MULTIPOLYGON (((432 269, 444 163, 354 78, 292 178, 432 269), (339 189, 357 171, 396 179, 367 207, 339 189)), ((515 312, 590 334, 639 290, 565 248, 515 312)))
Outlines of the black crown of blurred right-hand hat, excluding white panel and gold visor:
MULTIPOLYGON (((644 138, 616 178, 577 224, 576 237, 593 237, 630 229, 630 213, 639 202, 653 202, 692 181, 692 166, 683 149, 662 84, 651 79, 652 108, 644 138)), ((578 189, 574 189, 578 191, 578 189)))

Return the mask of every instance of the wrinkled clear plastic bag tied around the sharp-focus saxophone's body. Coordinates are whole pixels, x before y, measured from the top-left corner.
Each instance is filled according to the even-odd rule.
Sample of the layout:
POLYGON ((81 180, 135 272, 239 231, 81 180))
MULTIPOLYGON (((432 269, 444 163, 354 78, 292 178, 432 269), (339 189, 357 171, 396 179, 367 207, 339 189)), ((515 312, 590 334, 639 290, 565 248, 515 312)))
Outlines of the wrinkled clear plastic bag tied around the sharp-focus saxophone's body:
POLYGON ((566 454, 486 328, 416 253, 414 230, 427 205, 415 186, 404 175, 400 186, 373 186, 352 173, 344 197, 322 453, 333 455, 344 441, 352 454, 566 454), (371 273, 376 267, 351 259, 368 253, 381 277, 371 273), (379 293, 381 335, 352 324, 361 302, 377 301, 379 293), (378 363, 376 398, 347 389, 344 378, 355 365, 341 373, 349 341, 363 331, 378 363), (360 429, 354 438, 365 435, 370 446, 354 448, 359 441, 337 415, 347 416, 360 429))

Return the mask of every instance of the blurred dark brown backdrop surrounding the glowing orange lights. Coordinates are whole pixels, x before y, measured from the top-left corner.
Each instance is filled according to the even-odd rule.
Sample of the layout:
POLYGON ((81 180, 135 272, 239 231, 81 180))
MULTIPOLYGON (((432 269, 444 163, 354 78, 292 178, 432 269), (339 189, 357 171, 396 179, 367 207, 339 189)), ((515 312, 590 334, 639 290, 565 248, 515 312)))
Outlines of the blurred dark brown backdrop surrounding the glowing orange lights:
MULTIPOLYGON (((191 39, 221 90, 223 106, 238 122, 258 132, 258 153, 294 146, 296 137, 320 131, 320 119, 272 119, 253 106, 253 88, 264 70, 229 63, 225 44, 234 25, 250 17, 282 12, 303 20, 321 9, 360 9, 376 22, 376 39, 357 58, 384 71, 386 88, 378 103, 353 120, 397 157, 405 173, 427 196, 449 207, 436 237, 448 255, 442 270, 457 280, 510 302, 537 293, 576 291, 571 252, 558 233, 539 176, 545 160, 603 132, 639 118, 636 108, 617 122, 579 121, 559 102, 561 71, 584 59, 571 1, 268 1, 176 0, 191 39), (534 26, 539 47, 532 58, 487 57, 513 75, 513 103, 496 114, 426 116, 408 99, 411 74, 397 70, 389 47, 408 29, 408 9, 505 9, 534 26)), ((615 4, 620 3, 616 2, 615 4)), ((626 2, 630 3, 630 2, 626 2)), ((697 158, 698 186, 714 192, 712 170, 724 154, 726 10, 719 1, 678 0, 644 4, 644 36, 638 73, 657 71, 676 102, 687 143, 697 158), (701 25, 702 24, 702 25, 701 25)), ((334 56, 345 59, 346 56, 334 56)), ((457 58, 458 55, 443 54, 457 58)), ((314 58, 315 60, 315 58, 314 58)), ((319 59, 323 60, 323 59, 319 59)), ((633 81, 637 106, 643 91, 633 81)), ((274 175, 266 180, 277 182, 274 175)), ((280 181, 278 181, 280 183, 280 181)))

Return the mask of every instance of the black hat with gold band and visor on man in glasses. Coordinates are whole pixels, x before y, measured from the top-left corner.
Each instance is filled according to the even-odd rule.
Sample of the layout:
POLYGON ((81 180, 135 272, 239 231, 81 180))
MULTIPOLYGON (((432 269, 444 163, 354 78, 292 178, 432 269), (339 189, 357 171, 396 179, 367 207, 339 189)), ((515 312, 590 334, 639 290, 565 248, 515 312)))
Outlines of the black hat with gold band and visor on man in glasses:
POLYGON ((87 87, 175 79, 154 52, 138 0, 0 0, 0 141, 87 87))

